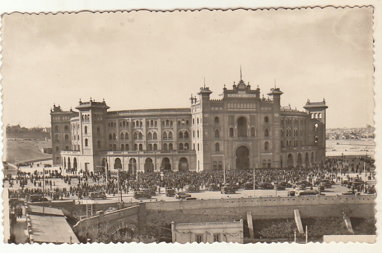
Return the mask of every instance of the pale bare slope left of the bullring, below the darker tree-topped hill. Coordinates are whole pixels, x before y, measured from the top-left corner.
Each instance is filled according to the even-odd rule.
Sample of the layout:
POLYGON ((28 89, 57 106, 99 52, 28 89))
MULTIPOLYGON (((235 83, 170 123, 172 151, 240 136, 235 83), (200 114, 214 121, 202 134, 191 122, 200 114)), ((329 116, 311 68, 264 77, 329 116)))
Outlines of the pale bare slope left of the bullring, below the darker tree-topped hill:
POLYGON ((42 159, 52 157, 44 154, 40 148, 51 147, 52 141, 27 141, 27 140, 7 140, 5 139, 5 157, 3 160, 14 163, 15 157, 18 161, 32 159, 42 159), (6 159, 5 159, 6 158, 6 159))

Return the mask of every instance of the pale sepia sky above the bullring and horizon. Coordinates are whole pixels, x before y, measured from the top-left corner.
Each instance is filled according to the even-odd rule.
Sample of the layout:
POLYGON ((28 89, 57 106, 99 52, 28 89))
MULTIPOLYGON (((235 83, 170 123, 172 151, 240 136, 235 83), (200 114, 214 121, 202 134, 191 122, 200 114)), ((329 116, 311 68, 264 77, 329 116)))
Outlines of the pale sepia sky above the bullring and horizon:
POLYGON ((282 106, 325 98, 327 128, 373 125, 372 9, 10 14, 2 19, 3 122, 50 126, 50 108, 189 107, 242 79, 282 106))

